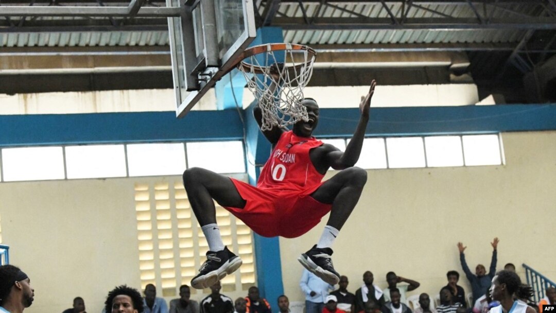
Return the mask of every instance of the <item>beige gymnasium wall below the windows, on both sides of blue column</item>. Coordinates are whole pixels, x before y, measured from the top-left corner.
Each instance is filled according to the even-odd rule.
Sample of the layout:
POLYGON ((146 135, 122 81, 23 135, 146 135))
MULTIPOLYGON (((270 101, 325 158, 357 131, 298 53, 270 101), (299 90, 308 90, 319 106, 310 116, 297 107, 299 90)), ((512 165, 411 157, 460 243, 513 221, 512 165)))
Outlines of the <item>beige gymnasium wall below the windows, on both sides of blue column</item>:
MULTIPOLYGON (((556 251, 548 247, 556 222, 556 132, 507 133, 503 141, 505 166, 369 171, 363 197, 334 246, 335 266, 350 277, 349 290, 359 287, 365 270, 380 286, 394 270, 420 281, 418 292, 436 292, 446 271, 461 269, 456 242, 468 246, 471 266, 488 266, 494 236, 500 237, 500 266, 526 263, 555 280, 556 251)), ((12 264, 36 289, 26 312, 60 312, 78 295, 87 311, 100 312, 113 286, 140 287, 133 186, 151 179, 160 180, 0 183, 2 240, 12 247, 12 264)), ((280 240, 292 302, 303 300, 296 256, 316 242, 322 225, 299 239, 280 240)), ((464 277, 461 283, 469 290, 464 277)))

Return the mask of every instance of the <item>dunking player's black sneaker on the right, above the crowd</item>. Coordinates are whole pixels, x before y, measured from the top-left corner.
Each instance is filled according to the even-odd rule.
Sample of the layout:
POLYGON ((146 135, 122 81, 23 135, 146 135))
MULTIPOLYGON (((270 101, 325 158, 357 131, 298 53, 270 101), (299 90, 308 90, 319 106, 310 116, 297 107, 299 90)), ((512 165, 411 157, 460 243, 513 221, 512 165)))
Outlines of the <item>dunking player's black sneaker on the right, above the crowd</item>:
POLYGON ((311 250, 300 255, 297 261, 299 261, 305 269, 328 284, 336 285, 340 282, 340 274, 334 270, 334 265, 332 265, 332 259, 330 257, 331 255, 332 249, 317 248, 316 245, 314 245, 311 250))

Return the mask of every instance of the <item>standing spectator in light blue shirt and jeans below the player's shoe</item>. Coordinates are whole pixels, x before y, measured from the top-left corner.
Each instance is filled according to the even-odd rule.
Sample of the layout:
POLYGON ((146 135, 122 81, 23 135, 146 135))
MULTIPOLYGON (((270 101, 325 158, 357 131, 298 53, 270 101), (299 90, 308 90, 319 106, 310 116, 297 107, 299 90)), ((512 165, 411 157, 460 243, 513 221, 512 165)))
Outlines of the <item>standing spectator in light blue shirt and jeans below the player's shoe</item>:
POLYGON ((303 270, 299 286, 305 294, 305 312, 322 313, 324 300, 329 291, 334 290, 334 286, 307 270, 303 270))

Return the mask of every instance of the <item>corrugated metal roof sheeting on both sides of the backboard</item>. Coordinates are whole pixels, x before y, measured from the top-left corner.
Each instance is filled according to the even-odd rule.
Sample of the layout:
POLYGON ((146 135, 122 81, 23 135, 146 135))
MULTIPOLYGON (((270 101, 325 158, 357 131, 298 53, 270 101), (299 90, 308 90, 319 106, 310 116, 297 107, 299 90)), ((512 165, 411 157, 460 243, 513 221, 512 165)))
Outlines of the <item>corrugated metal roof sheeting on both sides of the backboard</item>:
MULTIPOLYGON (((476 4, 475 4, 476 5, 476 4)), ((520 14, 541 16, 545 8, 537 3, 497 4, 504 8, 487 6, 486 16, 492 18, 513 18, 520 14), (514 11, 514 12, 512 12, 514 11), (519 12, 519 13, 515 13, 519 12)), ((379 2, 373 3, 333 3, 333 6, 317 2, 303 3, 307 17, 313 16, 389 18, 389 13, 379 2), (353 12, 353 13, 350 13, 353 12)), ((396 16, 401 16, 402 5, 388 2, 389 9, 396 16)), ((431 18, 452 16, 456 18, 476 18, 473 9, 466 3, 419 4, 412 6, 408 18, 431 18), (438 13, 434 13, 436 11, 438 13)), ((261 9, 261 13, 263 8, 261 9)), ((481 14, 482 6, 478 7, 481 14)), ((303 17, 299 3, 282 2, 279 15, 303 17)), ((78 19, 40 17, 38 19, 78 19)), ((23 28, 22 28, 23 29, 23 28)), ((519 42, 526 31, 520 29, 389 29, 389 30, 284 30, 286 42, 301 44, 384 44, 384 43, 513 43, 519 42)), ((167 46, 166 31, 106 31, 106 32, 34 32, 34 33, 0 33, 0 47, 87 47, 87 46, 167 46)))

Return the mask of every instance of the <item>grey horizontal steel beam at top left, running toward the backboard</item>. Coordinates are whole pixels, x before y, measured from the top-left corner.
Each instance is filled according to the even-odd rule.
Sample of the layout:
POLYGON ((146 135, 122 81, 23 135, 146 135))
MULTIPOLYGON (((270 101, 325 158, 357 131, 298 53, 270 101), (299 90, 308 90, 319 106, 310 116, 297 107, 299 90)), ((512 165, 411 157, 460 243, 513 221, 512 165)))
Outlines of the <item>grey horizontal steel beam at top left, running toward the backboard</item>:
MULTIPOLYGON (((179 17, 178 7, 140 8, 138 17, 179 17)), ((128 7, 0 7, 0 16, 71 16, 71 17, 128 17, 128 7)))

